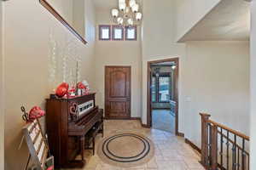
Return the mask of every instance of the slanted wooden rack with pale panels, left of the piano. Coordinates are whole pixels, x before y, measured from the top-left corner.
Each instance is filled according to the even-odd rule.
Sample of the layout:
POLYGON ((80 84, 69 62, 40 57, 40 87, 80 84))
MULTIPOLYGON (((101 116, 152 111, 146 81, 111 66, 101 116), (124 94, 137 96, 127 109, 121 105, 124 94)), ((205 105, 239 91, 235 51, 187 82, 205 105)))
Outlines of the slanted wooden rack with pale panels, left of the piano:
POLYGON ((29 161, 32 158, 31 169, 53 170, 54 157, 49 156, 49 145, 38 119, 26 124, 26 126, 23 127, 23 133, 30 152, 29 161))

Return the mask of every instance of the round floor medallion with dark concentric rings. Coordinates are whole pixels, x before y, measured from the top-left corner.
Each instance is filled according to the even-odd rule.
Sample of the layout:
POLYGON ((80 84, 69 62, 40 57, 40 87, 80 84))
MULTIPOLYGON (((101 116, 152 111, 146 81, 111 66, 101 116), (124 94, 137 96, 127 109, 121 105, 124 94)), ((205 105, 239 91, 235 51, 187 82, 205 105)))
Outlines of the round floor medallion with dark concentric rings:
POLYGON ((141 133, 112 133, 98 143, 100 159, 116 167, 137 167, 154 156, 154 143, 141 133))

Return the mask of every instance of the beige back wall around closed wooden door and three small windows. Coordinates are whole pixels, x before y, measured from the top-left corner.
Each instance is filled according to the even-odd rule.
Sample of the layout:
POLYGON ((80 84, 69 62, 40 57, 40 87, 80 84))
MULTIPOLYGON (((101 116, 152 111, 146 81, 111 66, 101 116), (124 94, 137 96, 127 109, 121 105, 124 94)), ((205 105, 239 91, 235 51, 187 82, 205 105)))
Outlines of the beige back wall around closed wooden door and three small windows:
MULTIPOLYGON (((98 25, 111 23, 109 11, 97 11, 98 25)), ((98 36, 98 28, 96 28, 98 36)), ((104 108, 105 65, 131 65, 131 116, 141 116, 141 32, 137 28, 137 41, 98 41, 96 37, 96 90, 97 103, 104 108)))

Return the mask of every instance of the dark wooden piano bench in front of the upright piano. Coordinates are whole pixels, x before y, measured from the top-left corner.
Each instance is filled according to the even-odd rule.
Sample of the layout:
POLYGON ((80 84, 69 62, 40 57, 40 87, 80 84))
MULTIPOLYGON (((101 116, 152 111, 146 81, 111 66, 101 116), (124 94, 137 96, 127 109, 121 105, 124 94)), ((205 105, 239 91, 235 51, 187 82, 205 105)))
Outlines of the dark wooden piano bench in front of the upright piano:
POLYGON ((92 150, 93 156, 95 154, 95 138, 98 133, 103 135, 103 122, 96 122, 96 124, 91 127, 90 131, 85 134, 85 150, 92 150), (92 147, 90 144, 92 143, 92 147))

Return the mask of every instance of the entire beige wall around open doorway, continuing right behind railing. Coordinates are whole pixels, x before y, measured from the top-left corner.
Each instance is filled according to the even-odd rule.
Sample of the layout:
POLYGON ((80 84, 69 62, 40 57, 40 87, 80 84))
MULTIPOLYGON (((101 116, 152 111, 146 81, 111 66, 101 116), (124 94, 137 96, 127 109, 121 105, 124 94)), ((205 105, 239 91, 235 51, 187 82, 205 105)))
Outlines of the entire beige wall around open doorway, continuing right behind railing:
POLYGON ((143 123, 147 122, 148 60, 178 57, 179 132, 200 146, 198 114, 206 111, 212 119, 248 134, 248 42, 177 44, 172 33, 176 29, 172 23, 177 18, 170 13, 174 8, 172 1, 143 2, 143 123))

